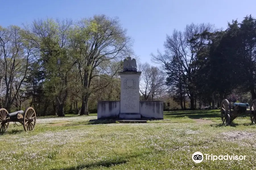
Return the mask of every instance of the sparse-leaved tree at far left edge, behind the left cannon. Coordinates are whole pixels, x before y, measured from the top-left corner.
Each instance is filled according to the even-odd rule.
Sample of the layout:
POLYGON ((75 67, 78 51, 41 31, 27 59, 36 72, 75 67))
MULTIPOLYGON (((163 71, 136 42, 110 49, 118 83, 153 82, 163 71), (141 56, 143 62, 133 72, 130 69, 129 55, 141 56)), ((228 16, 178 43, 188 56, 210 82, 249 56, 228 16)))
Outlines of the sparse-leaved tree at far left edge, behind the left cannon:
MULTIPOLYGON (((3 85, 2 80, 5 82, 5 97, 3 100, 0 99, 0 107, 6 108, 7 111, 10 111, 11 105, 17 98, 32 57, 33 46, 27 43, 23 32, 20 27, 15 25, 8 28, 0 27, 1 88, 3 85)), ((0 96, 2 95, 0 94, 0 96)))

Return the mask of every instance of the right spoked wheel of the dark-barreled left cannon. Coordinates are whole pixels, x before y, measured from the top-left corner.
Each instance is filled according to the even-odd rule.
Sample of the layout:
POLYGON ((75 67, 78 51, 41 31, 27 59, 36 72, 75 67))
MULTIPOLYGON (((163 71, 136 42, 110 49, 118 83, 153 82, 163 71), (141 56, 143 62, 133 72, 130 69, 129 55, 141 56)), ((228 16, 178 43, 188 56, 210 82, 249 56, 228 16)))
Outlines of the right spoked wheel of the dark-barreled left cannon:
POLYGON ((25 131, 32 131, 36 126, 36 111, 28 107, 24 114, 23 127, 25 131))

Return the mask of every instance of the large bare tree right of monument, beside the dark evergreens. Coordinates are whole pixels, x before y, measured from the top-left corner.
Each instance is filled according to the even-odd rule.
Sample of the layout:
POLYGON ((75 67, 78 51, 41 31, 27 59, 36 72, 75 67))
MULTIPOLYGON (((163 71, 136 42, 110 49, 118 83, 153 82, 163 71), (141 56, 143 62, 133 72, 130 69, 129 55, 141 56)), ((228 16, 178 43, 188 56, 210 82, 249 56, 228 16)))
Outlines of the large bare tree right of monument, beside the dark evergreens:
POLYGON ((164 66, 164 70, 172 81, 176 84, 180 80, 186 88, 187 96, 190 99, 191 109, 195 109, 196 92, 193 86, 193 75, 198 69, 197 52, 207 44, 207 39, 195 35, 204 31, 214 31, 212 24, 190 24, 183 32, 173 31, 172 35, 166 35, 164 47, 165 54, 158 50, 158 54, 152 54, 152 61, 164 66))

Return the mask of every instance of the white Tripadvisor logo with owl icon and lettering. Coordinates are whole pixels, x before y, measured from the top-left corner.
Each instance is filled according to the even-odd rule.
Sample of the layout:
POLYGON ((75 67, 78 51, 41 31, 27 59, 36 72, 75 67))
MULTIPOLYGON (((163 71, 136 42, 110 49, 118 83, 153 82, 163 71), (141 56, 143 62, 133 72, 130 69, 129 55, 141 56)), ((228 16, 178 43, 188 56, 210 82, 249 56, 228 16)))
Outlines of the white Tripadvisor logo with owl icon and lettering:
POLYGON ((246 155, 212 155, 212 154, 202 154, 201 152, 195 152, 192 155, 192 160, 195 163, 200 163, 204 160, 204 156, 205 155, 205 160, 211 160, 211 161, 216 161, 216 160, 245 160, 246 155))

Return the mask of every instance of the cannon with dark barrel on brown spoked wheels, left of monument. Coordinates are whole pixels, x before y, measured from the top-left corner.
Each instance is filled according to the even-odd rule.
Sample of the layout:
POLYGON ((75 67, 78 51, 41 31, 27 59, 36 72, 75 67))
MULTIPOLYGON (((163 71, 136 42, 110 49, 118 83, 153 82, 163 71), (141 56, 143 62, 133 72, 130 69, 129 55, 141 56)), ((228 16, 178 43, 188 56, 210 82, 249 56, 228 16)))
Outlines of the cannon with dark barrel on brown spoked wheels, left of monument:
POLYGON ((28 107, 25 112, 16 111, 13 113, 8 113, 6 109, 0 109, 0 132, 6 132, 10 122, 14 122, 14 125, 19 122, 25 131, 32 131, 36 126, 36 112, 32 107, 28 107))

